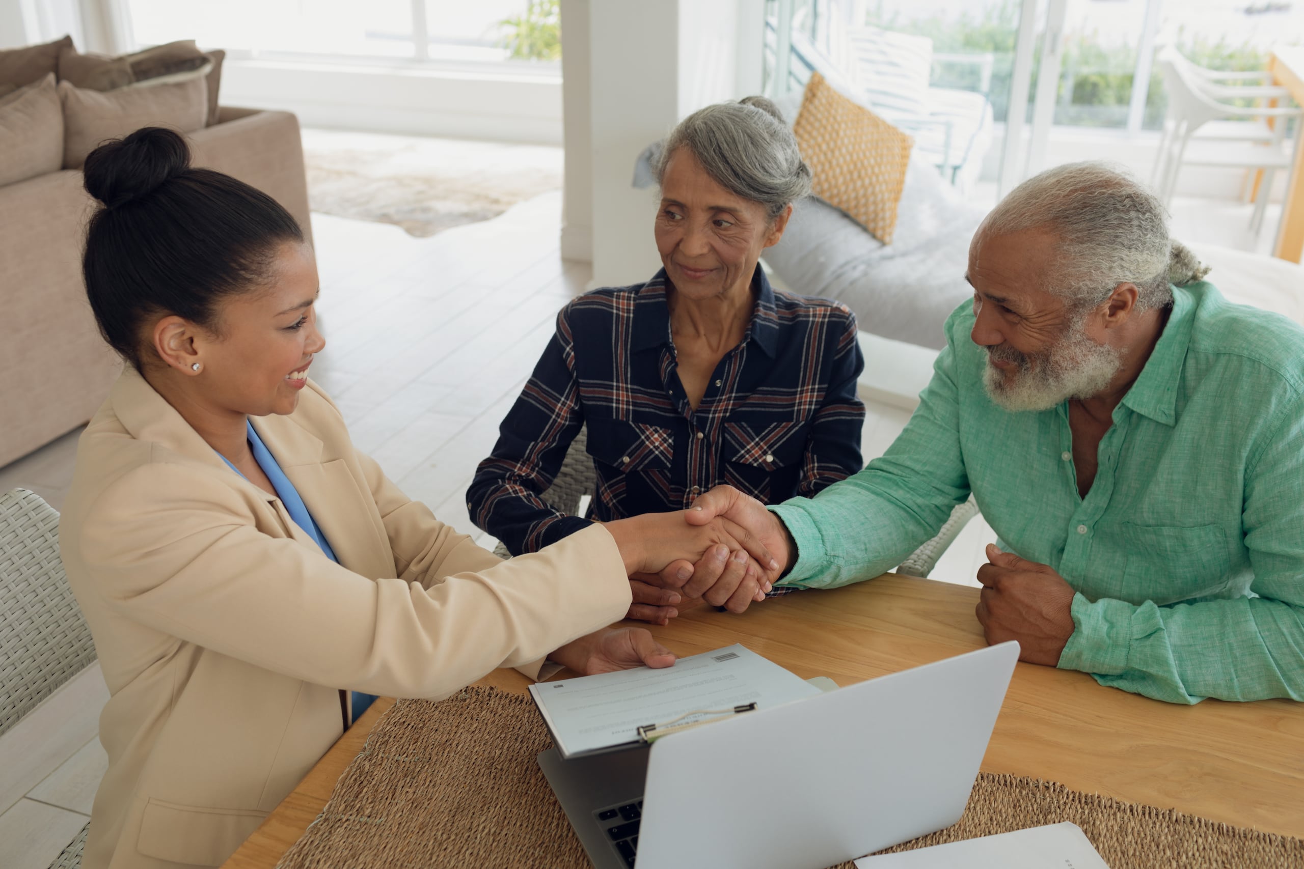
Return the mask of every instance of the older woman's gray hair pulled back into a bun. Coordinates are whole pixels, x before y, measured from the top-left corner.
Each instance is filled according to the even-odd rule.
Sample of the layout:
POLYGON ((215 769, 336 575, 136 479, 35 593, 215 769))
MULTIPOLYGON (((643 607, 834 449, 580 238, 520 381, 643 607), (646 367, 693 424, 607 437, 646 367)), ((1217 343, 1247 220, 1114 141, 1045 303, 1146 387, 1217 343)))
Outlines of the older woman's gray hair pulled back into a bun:
POLYGON ((679 121, 656 159, 657 184, 681 147, 716 184, 765 206, 771 220, 811 190, 811 171, 797 138, 764 96, 707 106, 679 121))

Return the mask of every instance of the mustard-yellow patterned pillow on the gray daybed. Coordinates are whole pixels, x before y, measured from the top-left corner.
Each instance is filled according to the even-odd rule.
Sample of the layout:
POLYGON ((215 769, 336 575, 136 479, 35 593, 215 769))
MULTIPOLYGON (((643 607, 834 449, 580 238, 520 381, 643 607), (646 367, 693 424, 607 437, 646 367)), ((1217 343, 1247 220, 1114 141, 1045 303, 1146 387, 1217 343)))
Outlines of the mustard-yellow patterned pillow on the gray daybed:
POLYGON ((814 193, 892 244, 914 139, 812 73, 793 125, 814 193))

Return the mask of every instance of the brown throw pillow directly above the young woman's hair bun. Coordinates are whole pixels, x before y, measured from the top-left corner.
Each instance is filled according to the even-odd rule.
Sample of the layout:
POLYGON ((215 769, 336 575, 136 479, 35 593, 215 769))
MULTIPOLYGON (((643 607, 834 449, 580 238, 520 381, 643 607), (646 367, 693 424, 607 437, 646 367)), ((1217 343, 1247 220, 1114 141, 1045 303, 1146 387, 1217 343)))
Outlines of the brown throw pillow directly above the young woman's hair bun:
POLYGON ((202 78, 107 93, 59 82, 59 98, 64 104, 65 169, 81 168, 86 155, 100 142, 121 138, 142 126, 193 133, 209 119, 209 91, 202 78))

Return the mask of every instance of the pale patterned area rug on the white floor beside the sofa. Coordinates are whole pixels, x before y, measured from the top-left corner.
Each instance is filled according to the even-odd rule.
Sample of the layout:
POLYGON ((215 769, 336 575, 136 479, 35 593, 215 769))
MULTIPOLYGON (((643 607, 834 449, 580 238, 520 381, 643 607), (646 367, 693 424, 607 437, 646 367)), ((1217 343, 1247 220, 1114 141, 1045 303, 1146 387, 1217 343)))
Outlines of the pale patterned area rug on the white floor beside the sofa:
POLYGON ((305 129, 313 211, 417 237, 490 220, 562 185, 562 149, 305 129))

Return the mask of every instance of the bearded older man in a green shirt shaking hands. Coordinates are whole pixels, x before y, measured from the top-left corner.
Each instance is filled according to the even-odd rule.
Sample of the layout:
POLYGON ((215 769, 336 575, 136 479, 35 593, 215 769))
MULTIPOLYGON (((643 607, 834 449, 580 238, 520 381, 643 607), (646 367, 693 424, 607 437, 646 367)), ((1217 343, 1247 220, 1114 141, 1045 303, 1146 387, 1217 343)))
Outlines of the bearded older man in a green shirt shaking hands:
MULTIPOLYGON (((1304 330, 1227 302, 1129 176, 1045 172, 988 215, 973 304, 896 443, 812 499, 729 487, 786 573, 891 569, 974 494, 988 642, 1179 704, 1304 698, 1304 330)), ((778 571, 773 571, 777 577, 778 571)))

